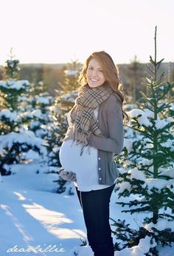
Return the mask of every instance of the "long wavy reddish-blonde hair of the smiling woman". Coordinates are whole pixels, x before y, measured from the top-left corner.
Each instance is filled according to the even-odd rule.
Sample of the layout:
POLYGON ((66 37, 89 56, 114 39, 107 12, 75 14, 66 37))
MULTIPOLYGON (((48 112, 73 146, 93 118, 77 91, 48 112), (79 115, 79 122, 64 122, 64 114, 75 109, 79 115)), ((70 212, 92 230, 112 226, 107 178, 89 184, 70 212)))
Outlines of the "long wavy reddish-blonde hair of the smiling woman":
POLYGON ((119 79, 118 67, 114 64, 114 61, 111 58, 111 56, 108 53, 105 53, 105 51, 94 52, 91 55, 89 55, 86 59, 85 63, 83 64, 82 71, 79 75, 79 83, 81 85, 80 89, 87 84, 86 71, 88 68, 89 61, 91 61, 91 59, 93 58, 100 62, 106 83, 109 87, 111 87, 111 89, 116 93, 116 95, 119 95, 119 97, 117 98, 119 100, 119 104, 122 107, 123 117, 124 119, 128 118, 128 115, 123 110, 122 106, 125 97, 123 92, 123 85, 119 79))

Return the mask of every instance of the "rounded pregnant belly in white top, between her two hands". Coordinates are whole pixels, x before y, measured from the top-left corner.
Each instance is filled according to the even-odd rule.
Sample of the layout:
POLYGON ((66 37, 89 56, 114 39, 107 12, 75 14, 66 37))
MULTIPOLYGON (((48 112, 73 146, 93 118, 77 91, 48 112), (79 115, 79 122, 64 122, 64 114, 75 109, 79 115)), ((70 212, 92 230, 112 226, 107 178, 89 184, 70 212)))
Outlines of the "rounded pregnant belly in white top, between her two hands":
POLYGON ((67 171, 75 172, 76 174, 82 172, 82 169, 97 168, 97 149, 92 146, 86 146, 83 154, 80 155, 82 145, 75 144, 72 140, 63 141, 60 146, 60 164, 67 171))

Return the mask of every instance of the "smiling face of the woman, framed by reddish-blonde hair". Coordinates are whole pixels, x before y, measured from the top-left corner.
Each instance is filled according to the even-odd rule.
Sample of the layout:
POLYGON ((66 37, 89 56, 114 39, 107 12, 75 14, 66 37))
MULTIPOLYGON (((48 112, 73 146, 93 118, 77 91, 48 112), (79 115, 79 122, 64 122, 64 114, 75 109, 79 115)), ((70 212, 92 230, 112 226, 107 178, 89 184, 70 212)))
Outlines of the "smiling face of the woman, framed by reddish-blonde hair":
POLYGON ((88 63, 86 79, 91 88, 100 87, 105 82, 105 76, 103 75, 100 62, 95 58, 92 58, 88 63))

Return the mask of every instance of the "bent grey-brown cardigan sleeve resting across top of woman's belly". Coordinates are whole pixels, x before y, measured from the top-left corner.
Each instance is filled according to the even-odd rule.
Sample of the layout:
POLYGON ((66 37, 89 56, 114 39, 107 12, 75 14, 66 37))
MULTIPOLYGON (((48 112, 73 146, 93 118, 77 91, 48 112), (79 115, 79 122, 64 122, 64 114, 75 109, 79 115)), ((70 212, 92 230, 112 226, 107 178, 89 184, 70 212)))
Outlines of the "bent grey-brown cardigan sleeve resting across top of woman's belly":
POLYGON ((124 141, 124 127, 122 122, 122 108, 114 95, 110 95, 107 102, 106 118, 108 123, 108 138, 99 137, 91 133, 89 145, 96 149, 122 152, 124 141))

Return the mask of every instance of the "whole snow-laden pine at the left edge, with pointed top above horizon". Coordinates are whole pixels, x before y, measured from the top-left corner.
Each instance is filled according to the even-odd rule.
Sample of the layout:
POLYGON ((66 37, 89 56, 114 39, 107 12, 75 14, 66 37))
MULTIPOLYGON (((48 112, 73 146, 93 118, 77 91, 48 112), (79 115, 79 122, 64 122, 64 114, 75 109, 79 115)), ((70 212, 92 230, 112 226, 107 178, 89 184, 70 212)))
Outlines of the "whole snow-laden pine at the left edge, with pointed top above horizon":
POLYGON ((19 61, 10 52, 6 61, 6 81, 0 81, 0 92, 4 98, 0 111, 0 172, 7 172, 10 164, 18 164, 29 158, 46 155, 43 141, 28 130, 30 113, 26 112, 25 99, 29 95, 29 81, 17 80, 19 61), (31 157, 32 156, 32 157, 31 157))

